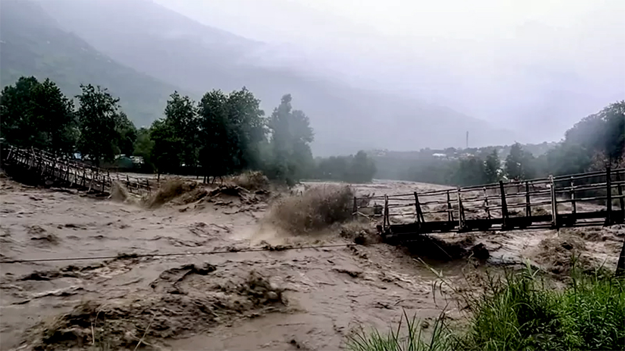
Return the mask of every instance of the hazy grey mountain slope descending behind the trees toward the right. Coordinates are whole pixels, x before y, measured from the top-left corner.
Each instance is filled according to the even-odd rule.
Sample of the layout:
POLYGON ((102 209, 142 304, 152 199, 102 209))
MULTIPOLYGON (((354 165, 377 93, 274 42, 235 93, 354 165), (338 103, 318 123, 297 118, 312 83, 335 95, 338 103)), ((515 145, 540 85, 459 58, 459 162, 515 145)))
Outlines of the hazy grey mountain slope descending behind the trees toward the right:
MULTIPOLYGON (((2 12, 6 12, 2 3, 2 12)), ((175 87, 197 99, 210 89, 228 92, 246 86, 263 101, 267 112, 278 105, 283 94, 292 94, 294 108, 305 111, 315 128, 316 155, 353 153, 362 148, 415 150, 463 146, 467 130, 472 146, 509 144, 513 139, 510 132, 493 130, 484 121, 449 108, 349 87, 338 79, 315 76, 308 67, 288 69, 270 65, 271 57, 259 59, 259 55, 272 52, 266 44, 199 24, 151 1, 47 0, 40 4, 58 26, 69 32, 65 34, 68 41, 71 38, 77 42, 80 37, 88 45, 74 45, 72 49, 53 46, 44 50, 43 47, 50 45, 47 31, 32 28, 30 23, 35 23, 34 20, 12 19, 13 32, 19 33, 19 26, 24 26, 24 32, 31 37, 27 41, 31 46, 20 44, 19 48, 11 49, 3 46, 3 61, 7 51, 13 57, 22 57, 6 70, 28 74, 30 69, 32 74, 47 73, 54 80, 67 80, 69 74, 65 72, 67 67, 72 67, 72 76, 80 77, 76 79, 81 82, 109 87, 126 104, 153 108, 151 118, 145 112, 127 111, 138 124, 160 117, 164 99, 175 87), (40 50, 35 51, 35 46, 40 50), (86 53, 82 48, 92 53, 93 58, 83 59, 86 53), (50 57, 61 54, 65 61, 54 60, 46 70, 38 64, 13 68, 20 67, 19 62, 51 60, 50 57), (124 70, 128 71, 121 74, 124 70)), ((4 26, 3 23, 3 29, 4 26)), ((51 33, 61 35, 58 26, 51 33)), ((65 85, 62 81, 58 83, 65 85)))

